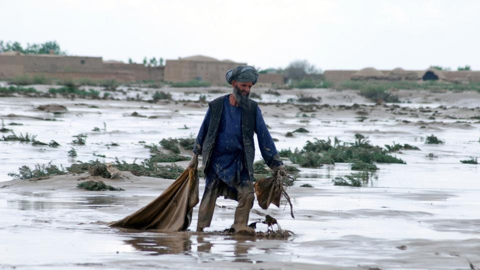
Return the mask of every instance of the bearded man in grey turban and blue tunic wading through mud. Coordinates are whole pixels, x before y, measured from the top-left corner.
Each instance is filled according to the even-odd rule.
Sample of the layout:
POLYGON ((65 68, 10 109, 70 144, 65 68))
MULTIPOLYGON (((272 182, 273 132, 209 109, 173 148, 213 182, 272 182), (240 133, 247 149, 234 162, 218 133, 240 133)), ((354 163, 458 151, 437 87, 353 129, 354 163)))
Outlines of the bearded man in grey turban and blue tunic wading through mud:
POLYGON ((285 174, 285 168, 257 102, 248 98, 251 86, 258 80, 256 69, 240 65, 228 70, 225 77, 233 86, 233 93, 208 103, 208 110, 193 147, 192 159, 188 164, 196 168, 198 155, 202 155, 206 182, 196 230, 203 231, 203 228, 210 226, 216 198, 224 196, 238 201, 231 228, 236 232, 253 232, 247 226, 254 200, 253 132, 256 133, 266 164, 274 173, 279 170, 282 175, 285 174))

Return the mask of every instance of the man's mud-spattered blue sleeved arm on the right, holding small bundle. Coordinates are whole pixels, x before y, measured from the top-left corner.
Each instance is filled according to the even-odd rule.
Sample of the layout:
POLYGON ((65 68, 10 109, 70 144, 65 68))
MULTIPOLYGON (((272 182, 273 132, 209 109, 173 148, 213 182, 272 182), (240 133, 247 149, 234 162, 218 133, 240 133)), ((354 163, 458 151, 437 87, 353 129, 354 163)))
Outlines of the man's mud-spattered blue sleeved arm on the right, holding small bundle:
POLYGON ((265 160, 268 167, 274 171, 283 168, 283 161, 276 150, 275 143, 271 138, 270 132, 266 128, 265 121, 261 115, 261 110, 258 107, 255 116, 255 133, 258 139, 258 146, 260 147, 261 156, 265 160))

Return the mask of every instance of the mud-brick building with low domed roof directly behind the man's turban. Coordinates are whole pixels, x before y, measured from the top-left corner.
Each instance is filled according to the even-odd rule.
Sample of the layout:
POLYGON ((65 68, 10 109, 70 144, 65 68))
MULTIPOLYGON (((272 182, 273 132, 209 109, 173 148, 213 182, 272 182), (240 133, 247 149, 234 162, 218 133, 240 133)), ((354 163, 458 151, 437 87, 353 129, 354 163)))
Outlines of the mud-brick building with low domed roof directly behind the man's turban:
MULTIPOLYGON (((226 84, 225 73, 228 69, 246 64, 231 60, 218 60, 213 57, 194 55, 176 60, 165 61, 164 79, 169 82, 186 82, 191 80, 206 81, 212 84, 226 84)), ((282 85, 280 74, 260 74, 259 84, 282 85)))

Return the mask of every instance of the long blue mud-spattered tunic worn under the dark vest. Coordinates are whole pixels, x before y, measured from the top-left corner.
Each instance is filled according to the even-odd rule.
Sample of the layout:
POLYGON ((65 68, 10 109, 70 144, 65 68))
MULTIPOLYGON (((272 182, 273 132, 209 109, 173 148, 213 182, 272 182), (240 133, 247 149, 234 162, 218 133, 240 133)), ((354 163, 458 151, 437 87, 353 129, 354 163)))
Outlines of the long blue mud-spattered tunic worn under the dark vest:
MULTIPOLYGON (((218 133, 215 139, 215 145, 211 153, 210 166, 206 169, 206 180, 217 176, 220 180, 229 186, 238 184, 238 180, 245 182, 248 180, 248 171, 243 164, 243 139, 241 134, 241 107, 230 104, 228 95, 223 99, 223 110, 220 118, 220 125, 218 126, 218 133)), ((201 124, 197 135, 197 140, 203 143, 203 140, 208 131, 208 124, 210 122, 210 109, 206 111, 205 118, 201 124)), ((271 138, 270 132, 266 128, 266 124, 261 115, 260 108, 257 108, 255 115, 255 129, 254 129, 260 152, 267 164, 272 164, 273 156, 277 154, 275 144, 271 138)), ((199 154, 196 148, 193 152, 199 154)))

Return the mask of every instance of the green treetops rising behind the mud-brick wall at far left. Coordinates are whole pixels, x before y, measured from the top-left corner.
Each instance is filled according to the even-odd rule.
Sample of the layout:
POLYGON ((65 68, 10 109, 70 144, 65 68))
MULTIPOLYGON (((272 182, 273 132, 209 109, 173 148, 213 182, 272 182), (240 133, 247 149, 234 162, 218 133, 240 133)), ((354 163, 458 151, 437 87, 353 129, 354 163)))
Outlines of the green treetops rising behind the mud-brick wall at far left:
POLYGON ((57 54, 66 55, 66 51, 60 49, 60 45, 56 41, 46 41, 44 43, 27 43, 26 47, 23 47, 18 41, 6 41, 0 40, 0 52, 5 51, 17 51, 23 54, 57 54))

